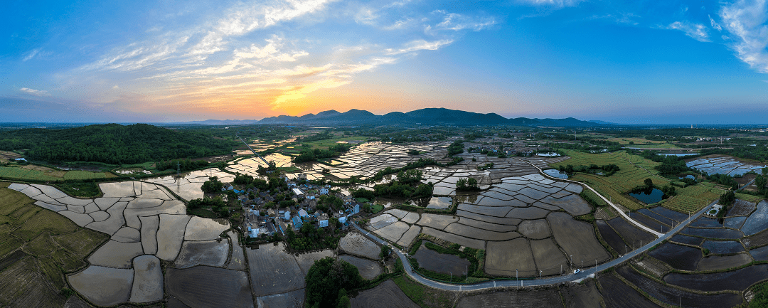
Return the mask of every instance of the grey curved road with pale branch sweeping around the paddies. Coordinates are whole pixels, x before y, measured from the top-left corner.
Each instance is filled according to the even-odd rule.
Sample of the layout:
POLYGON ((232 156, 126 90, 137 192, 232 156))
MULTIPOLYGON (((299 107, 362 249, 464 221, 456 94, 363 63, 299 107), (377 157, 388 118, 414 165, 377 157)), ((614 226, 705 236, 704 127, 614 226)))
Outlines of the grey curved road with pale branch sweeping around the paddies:
MULTIPOLYGON (((531 163, 528 162, 528 164, 531 164, 531 163)), ((536 166, 534 165, 534 167, 536 166)), ((536 167, 536 168, 538 169, 539 172, 541 172, 541 168, 539 167, 536 167)), ((541 172, 541 174, 544 174, 544 173, 541 172)), ((544 174, 544 175, 546 177, 549 177, 547 174, 544 174)), ((556 180, 562 180, 562 179, 556 179, 556 180)), ((571 181, 571 180, 568 180, 568 181, 571 181)), ((578 183, 578 182, 575 182, 575 183, 578 183)), ((581 184, 581 183, 578 183, 578 184, 581 184)), ((585 185, 585 186, 589 187, 588 185, 585 185)), ((590 190, 594 191, 591 187, 589 188, 590 190)), ((597 191, 594 191, 594 193, 598 194, 597 191)), ((605 197, 603 197, 601 194, 598 194, 598 196, 600 196, 601 198, 603 198, 603 200, 605 200, 605 197)), ((613 206, 614 208, 616 208, 619 213, 624 214, 624 212, 619 210, 610 201, 608 200, 605 200, 605 201, 608 202, 608 204, 611 204, 611 206, 613 206)), ((683 230, 684 227, 686 227, 688 224, 690 224, 691 221, 695 220, 697 217, 703 214, 704 211, 710 208, 713 204, 717 204, 717 200, 712 201, 712 203, 710 203, 707 207, 703 207, 696 214, 692 215, 691 217, 688 217, 687 220, 684 220, 683 223, 678 224, 677 227, 672 228, 672 230, 668 231, 667 233, 658 233, 656 231, 650 230, 647 227, 641 225, 644 230, 650 230, 654 234, 658 234, 659 237, 656 240, 653 240, 652 242, 645 244, 643 247, 637 248, 636 250, 632 250, 630 253, 624 254, 623 256, 618 257, 617 259, 599 264, 597 267, 588 267, 581 270, 581 273, 578 273, 578 274, 568 273, 567 275, 562 275, 558 277, 547 277, 547 278, 538 278, 538 279, 531 279, 531 280, 488 280, 488 281, 483 281, 481 283, 471 283, 471 284, 442 283, 435 280, 429 280, 428 278, 422 277, 421 275, 419 275, 419 273, 414 272, 413 268, 411 267, 411 263, 408 261, 408 258, 406 257, 407 254, 402 252, 402 250, 395 249, 392 251, 394 251, 397 254, 397 256, 400 258, 400 261, 402 262, 402 267, 406 270, 406 273, 408 274, 409 277, 411 277, 413 280, 418 281, 419 283, 422 283, 425 286, 431 286, 439 290, 473 291, 473 290, 484 290, 484 289, 492 289, 496 287, 507 287, 507 286, 547 286, 547 285, 553 285, 553 284, 559 284, 559 283, 566 283, 574 280, 581 280, 581 279, 590 277, 602 270, 607 270, 608 268, 615 267, 618 264, 624 263, 625 261, 630 260, 633 257, 637 257, 637 255, 644 253, 646 250, 650 249, 650 247, 656 246, 662 241, 667 240, 669 237, 672 237, 675 233, 679 232, 680 230, 683 230)), ((631 221, 634 222, 634 220, 631 220, 631 221)), ((352 224, 352 226, 355 227, 357 230, 359 230, 360 233, 364 234, 366 237, 373 240, 375 243, 378 243, 379 245, 389 245, 389 243, 387 243, 386 240, 382 240, 375 234, 370 233, 366 230, 363 230, 357 224, 352 224)))

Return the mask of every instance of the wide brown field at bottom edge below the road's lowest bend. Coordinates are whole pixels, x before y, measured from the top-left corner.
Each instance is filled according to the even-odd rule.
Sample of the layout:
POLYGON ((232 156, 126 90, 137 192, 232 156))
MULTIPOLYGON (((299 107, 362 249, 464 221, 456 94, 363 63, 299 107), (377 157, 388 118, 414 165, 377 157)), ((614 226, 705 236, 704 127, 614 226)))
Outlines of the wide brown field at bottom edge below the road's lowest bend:
POLYGON ((464 296, 458 300, 458 308, 484 308, 484 307, 562 307, 563 302, 556 289, 548 290, 507 290, 492 293, 464 296))

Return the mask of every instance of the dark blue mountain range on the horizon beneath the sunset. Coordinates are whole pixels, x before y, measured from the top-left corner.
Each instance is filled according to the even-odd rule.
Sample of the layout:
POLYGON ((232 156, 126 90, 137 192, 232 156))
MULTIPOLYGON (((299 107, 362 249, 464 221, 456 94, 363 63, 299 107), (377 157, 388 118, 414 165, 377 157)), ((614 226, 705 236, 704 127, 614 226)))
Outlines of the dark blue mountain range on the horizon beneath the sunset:
POLYGON ((206 120, 191 121, 183 124, 204 125, 243 125, 243 124, 286 124, 286 125, 383 125, 383 124, 419 124, 419 125, 515 125, 515 126, 555 126, 555 127, 586 127, 612 125, 603 121, 581 121, 575 118, 538 119, 538 118, 504 118, 490 113, 452 110, 447 108, 424 108, 409 112, 394 111, 377 115, 369 111, 351 109, 346 112, 335 110, 321 111, 317 114, 302 116, 279 115, 261 120, 206 120))

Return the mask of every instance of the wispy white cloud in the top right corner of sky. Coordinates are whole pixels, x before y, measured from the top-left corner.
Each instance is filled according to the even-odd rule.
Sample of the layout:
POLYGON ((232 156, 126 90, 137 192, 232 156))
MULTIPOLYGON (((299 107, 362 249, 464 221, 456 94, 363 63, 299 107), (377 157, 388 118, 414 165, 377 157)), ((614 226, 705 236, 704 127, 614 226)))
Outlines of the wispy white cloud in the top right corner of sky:
POLYGON ((737 58, 768 74, 768 5, 765 0, 738 0, 720 8, 723 28, 731 34, 737 58))

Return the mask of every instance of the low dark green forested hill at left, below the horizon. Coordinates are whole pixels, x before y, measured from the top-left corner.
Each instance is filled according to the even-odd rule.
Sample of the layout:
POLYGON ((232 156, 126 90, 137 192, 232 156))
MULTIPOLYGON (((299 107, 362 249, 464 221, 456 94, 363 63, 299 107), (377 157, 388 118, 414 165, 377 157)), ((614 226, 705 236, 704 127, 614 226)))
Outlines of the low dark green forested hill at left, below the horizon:
POLYGON ((27 157, 37 161, 140 164, 229 154, 233 145, 233 141, 206 134, 148 124, 98 124, 61 130, 29 128, 0 134, 0 150, 28 150, 27 157))

